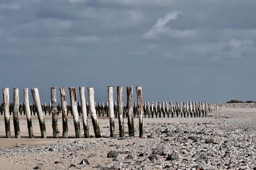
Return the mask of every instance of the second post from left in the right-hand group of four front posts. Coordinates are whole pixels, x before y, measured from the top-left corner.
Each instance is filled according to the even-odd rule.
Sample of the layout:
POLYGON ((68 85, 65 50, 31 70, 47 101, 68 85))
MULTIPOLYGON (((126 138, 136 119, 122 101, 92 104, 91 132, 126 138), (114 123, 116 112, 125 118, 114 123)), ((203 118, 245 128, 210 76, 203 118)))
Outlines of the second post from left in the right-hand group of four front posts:
POLYGON ((119 137, 124 138, 124 103, 123 103, 123 87, 117 87, 117 106, 118 106, 118 124, 119 137))

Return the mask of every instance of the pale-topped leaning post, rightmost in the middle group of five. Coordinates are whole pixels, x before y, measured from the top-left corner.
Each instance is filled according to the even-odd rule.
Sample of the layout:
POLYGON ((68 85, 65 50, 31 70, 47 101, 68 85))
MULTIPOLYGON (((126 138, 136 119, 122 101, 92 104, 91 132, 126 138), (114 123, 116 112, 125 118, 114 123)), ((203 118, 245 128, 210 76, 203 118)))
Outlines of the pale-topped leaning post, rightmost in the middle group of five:
POLYGON ((91 117, 92 117, 92 125, 93 125, 93 129, 94 129, 95 138, 101 138, 100 126, 99 126, 99 122, 98 122, 96 110, 95 110, 93 87, 88 87, 88 96, 89 96, 90 113, 91 113, 91 117))

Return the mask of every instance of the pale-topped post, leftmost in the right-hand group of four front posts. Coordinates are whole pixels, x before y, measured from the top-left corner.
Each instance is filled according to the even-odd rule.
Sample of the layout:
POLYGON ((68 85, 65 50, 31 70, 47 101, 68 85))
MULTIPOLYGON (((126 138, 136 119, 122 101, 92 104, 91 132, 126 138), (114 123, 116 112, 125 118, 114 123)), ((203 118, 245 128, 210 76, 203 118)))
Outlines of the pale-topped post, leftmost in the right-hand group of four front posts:
POLYGON ((116 134, 115 134, 114 101, 113 101, 113 85, 109 85, 108 86, 108 111, 109 111, 110 136, 112 138, 116 138, 116 134))

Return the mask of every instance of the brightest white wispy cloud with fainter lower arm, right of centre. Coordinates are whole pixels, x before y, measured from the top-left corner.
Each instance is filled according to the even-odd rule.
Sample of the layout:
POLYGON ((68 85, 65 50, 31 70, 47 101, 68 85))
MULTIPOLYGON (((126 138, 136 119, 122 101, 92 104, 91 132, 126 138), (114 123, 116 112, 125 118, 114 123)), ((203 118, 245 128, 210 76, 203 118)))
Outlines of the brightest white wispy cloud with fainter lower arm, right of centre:
POLYGON ((153 25, 148 32, 144 34, 144 38, 146 39, 156 39, 159 38, 161 35, 167 35, 172 37, 187 37, 187 36, 194 36, 195 31, 194 30, 177 30, 177 29, 171 29, 170 27, 167 27, 166 25, 168 22, 172 20, 176 20, 178 16, 181 14, 180 11, 172 11, 171 13, 168 13, 163 18, 158 18, 156 21, 156 24, 153 25))

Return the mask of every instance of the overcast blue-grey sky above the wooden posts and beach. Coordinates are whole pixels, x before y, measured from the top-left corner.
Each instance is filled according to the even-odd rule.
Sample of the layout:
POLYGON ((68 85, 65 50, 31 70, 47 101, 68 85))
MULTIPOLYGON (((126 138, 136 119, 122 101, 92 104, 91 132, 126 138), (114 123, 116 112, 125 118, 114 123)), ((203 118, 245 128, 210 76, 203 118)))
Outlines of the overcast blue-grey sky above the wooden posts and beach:
MULTIPOLYGON (((142 86, 143 101, 256 101, 255 0, 0 0, 0 87, 142 86)), ((59 96, 58 90, 58 96, 59 96)), ((88 97, 86 92, 86 97, 88 97)), ((0 101, 3 101, 1 97, 0 101)), ((88 99, 88 98, 87 98, 88 99)))

